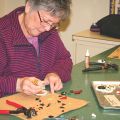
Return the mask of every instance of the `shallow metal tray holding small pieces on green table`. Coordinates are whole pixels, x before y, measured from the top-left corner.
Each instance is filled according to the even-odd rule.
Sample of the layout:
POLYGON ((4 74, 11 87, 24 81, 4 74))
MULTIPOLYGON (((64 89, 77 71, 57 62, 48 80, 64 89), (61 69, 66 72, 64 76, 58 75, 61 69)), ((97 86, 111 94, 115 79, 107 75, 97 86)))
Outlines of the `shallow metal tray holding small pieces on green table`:
POLYGON ((99 105, 104 109, 120 109, 120 81, 92 81, 99 105))

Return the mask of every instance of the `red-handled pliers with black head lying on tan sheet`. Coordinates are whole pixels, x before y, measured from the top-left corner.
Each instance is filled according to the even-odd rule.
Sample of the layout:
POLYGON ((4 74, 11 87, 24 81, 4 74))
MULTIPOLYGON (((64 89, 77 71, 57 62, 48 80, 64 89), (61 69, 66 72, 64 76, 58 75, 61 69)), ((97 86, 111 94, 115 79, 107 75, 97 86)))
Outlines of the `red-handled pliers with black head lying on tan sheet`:
POLYGON ((15 103, 15 102, 12 102, 10 100, 6 100, 6 103, 8 105, 12 105, 14 107, 16 107, 17 109, 16 110, 0 110, 0 114, 19 114, 19 113, 24 113, 24 115, 27 117, 27 118, 31 118, 32 116, 36 116, 37 115, 37 111, 33 108, 29 108, 27 109, 26 107, 18 104, 18 103, 15 103))

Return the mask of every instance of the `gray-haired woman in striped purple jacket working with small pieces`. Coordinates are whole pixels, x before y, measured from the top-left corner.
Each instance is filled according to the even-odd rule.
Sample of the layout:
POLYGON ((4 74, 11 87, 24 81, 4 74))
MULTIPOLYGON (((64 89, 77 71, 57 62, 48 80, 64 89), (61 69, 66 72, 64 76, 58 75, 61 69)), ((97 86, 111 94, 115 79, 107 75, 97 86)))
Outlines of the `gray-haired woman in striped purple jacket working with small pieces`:
POLYGON ((70 0, 27 0, 0 19, 0 97, 51 92, 71 79, 72 60, 57 31, 70 14, 70 0), (38 81, 37 85, 34 81, 38 81))

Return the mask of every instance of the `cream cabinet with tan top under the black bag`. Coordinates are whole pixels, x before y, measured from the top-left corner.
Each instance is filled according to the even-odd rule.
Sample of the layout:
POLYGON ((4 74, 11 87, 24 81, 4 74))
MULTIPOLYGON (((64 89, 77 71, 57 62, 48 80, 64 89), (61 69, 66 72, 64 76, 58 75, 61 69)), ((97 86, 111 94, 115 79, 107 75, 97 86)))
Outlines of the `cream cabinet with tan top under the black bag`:
POLYGON ((87 49, 90 51, 90 56, 95 56, 120 45, 120 39, 104 36, 99 32, 91 32, 90 30, 73 34, 72 40, 74 41, 74 64, 84 60, 87 49))

